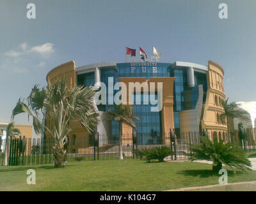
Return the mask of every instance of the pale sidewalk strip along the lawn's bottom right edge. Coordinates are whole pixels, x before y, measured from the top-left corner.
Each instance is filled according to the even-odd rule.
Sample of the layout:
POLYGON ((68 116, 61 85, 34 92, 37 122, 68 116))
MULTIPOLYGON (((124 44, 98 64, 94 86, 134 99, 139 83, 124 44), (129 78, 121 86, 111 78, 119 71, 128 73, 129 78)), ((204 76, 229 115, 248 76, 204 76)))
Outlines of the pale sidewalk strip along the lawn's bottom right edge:
POLYGON ((181 189, 171 189, 168 191, 256 191, 256 181, 225 185, 217 184, 211 186, 186 187, 181 189))

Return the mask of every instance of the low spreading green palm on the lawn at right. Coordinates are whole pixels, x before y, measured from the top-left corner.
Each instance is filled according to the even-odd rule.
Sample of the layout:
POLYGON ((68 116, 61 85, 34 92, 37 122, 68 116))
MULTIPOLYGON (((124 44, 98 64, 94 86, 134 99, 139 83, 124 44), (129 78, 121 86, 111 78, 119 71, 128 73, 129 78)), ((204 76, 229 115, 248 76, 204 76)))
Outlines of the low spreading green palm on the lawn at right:
POLYGON ((234 143, 224 143, 223 140, 218 142, 218 138, 214 138, 213 142, 206 137, 201 137, 200 140, 202 143, 196 143, 189 148, 189 160, 212 161, 212 170, 216 173, 221 170, 223 164, 230 166, 233 171, 234 167, 244 170, 251 166, 244 150, 234 143))

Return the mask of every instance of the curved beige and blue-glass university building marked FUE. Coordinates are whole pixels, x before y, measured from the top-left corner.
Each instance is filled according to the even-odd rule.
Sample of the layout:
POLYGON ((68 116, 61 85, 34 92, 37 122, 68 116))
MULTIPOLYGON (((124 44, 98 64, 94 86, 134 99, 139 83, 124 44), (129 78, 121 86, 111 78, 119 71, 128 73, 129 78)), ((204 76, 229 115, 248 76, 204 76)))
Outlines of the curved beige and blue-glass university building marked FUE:
MULTIPOLYGON (((118 135, 118 124, 113 121, 111 124, 104 122, 104 115, 109 109, 115 108, 113 97, 120 89, 113 90, 117 82, 123 82, 126 88, 121 89, 121 93, 131 92, 129 98, 127 94, 127 105, 132 106, 132 112, 140 118, 136 121, 137 134, 150 135, 157 133, 161 138, 164 134, 170 133, 170 129, 175 129, 178 137, 185 132, 202 132, 207 130, 209 136, 222 137, 227 135, 227 119, 221 119, 224 109, 220 100, 225 99, 223 85, 223 68, 213 61, 209 61, 207 66, 191 62, 100 62, 76 67, 76 62, 70 61, 61 64, 49 71, 47 74, 48 84, 65 76, 68 87, 74 85, 94 85, 96 82, 106 84, 106 101, 104 105, 97 105, 100 114, 100 124, 97 132, 108 138, 118 135), (109 80, 110 79, 110 80, 109 80), (129 87, 129 83, 134 83, 134 87, 129 87), (136 84, 137 82, 137 84, 136 84), (154 99, 163 94, 162 107, 158 112, 152 112, 156 104, 147 102, 147 88, 155 84, 153 93, 154 99), (162 87, 157 83, 162 83, 162 87), (135 92, 136 89, 141 93, 135 92), (160 91, 160 92, 159 92, 160 91), (145 98, 146 97, 146 98, 145 98), (141 104, 132 104, 132 99, 141 99, 141 104)), ((122 95, 122 100, 125 99, 122 95)), ((149 99, 150 100, 150 99, 149 99)), ((90 135, 84 131, 79 124, 71 124, 72 151, 77 152, 79 143, 77 138, 89 138, 90 135)), ((122 133, 132 133, 132 129, 122 124, 122 133)), ((146 138, 146 137, 145 137, 146 138)), ((141 141, 147 144, 147 141, 141 141)))

